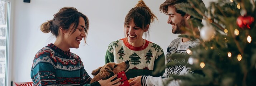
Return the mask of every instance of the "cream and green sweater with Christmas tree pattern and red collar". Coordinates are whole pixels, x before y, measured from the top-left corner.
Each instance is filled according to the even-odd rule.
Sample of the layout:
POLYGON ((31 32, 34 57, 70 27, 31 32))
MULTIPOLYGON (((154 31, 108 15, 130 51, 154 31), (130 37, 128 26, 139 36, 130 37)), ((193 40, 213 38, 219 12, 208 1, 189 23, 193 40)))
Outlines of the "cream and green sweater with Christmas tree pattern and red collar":
POLYGON ((145 40, 144 47, 133 47, 127 38, 114 41, 109 44, 106 51, 105 63, 120 63, 128 60, 129 70, 125 73, 127 78, 141 75, 162 76, 162 73, 153 75, 157 65, 165 66, 165 55, 160 46, 145 40))

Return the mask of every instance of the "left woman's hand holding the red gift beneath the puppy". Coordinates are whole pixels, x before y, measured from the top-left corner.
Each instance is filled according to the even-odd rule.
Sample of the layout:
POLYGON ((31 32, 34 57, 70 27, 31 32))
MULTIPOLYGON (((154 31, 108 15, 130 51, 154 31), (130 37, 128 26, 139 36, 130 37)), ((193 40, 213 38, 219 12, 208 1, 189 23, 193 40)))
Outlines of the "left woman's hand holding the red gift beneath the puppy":
POLYGON ((121 78, 118 78, 117 80, 111 81, 115 77, 117 77, 117 75, 114 75, 114 76, 112 76, 112 77, 110 77, 109 79, 106 79, 106 80, 100 80, 98 82, 100 83, 100 86, 118 86, 118 85, 121 85, 121 82, 119 82, 121 80, 121 78))

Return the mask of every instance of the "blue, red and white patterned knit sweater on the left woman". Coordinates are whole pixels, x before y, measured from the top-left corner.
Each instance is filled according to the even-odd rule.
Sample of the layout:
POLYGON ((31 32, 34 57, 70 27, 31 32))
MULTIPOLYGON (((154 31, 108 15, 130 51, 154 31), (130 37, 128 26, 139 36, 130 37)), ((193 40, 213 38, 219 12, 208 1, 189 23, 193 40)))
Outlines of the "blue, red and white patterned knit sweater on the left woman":
POLYGON ((79 56, 53 44, 35 54, 31 78, 35 86, 83 86, 91 81, 79 56))

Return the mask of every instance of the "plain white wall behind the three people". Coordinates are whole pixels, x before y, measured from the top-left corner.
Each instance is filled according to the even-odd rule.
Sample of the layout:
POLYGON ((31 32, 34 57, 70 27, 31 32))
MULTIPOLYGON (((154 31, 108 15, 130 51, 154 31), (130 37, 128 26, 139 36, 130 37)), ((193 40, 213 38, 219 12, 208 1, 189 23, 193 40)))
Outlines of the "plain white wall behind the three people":
MULTIPOLYGON (((125 15, 137 4, 138 0, 15 0, 12 5, 13 23, 11 36, 12 77, 14 82, 31 81, 30 71, 35 54, 49 43, 54 43, 54 36, 44 34, 39 26, 53 18, 62 7, 72 6, 89 18, 89 34, 87 44, 80 44, 79 49, 71 49, 82 59, 85 70, 92 70, 105 64, 105 53, 110 42, 124 38, 123 24, 125 15)), ((178 34, 171 33, 171 25, 167 24, 167 15, 160 13, 159 6, 165 0, 144 0, 146 5, 158 18, 151 24, 150 38, 160 45, 166 54, 167 46, 178 34)), ((92 76, 91 76, 92 77, 92 76)))

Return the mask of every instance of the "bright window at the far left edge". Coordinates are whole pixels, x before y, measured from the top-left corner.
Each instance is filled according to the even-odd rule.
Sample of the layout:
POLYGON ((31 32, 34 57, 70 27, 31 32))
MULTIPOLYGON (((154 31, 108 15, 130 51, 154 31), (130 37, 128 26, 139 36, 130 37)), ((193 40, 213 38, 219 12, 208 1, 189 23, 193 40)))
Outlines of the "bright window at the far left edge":
POLYGON ((9 3, 0 0, 0 86, 6 86, 7 80, 8 24, 9 3))

